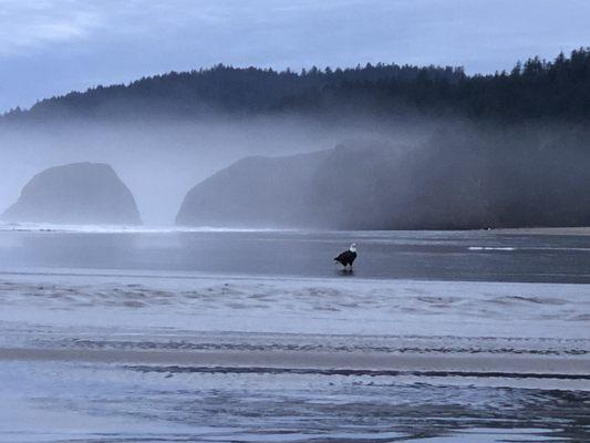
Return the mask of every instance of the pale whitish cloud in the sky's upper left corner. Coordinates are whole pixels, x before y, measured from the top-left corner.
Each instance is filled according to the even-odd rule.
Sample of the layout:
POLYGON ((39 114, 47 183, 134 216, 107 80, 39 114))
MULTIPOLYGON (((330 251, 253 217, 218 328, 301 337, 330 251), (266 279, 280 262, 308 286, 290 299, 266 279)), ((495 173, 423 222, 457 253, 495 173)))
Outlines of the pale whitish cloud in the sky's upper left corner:
MULTIPOLYGON (((0 0, 0 56, 90 39, 162 38, 184 28, 255 20, 249 1, 0 0)), ((62 47, 63 48, 63 47, 62 47)))

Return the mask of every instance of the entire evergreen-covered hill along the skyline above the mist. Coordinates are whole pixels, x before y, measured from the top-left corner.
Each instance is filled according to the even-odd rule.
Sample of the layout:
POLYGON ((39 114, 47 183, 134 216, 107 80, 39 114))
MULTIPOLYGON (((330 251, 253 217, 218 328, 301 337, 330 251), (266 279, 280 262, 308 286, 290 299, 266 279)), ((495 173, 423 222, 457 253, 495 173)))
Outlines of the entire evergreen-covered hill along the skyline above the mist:
POLYGON ((369 112, 460 115, 473 120, 587 121, 590 117, 590 49, 532 58, 507 72, 466 75, 460 68, 368 63, 353 69, 312 66, 294 73, 216 65, 170 72, 127 85, 86 92, 13 110, 6 121, 63 117, 195 119, 207 113, 252 115, 272 112, 369 112))

